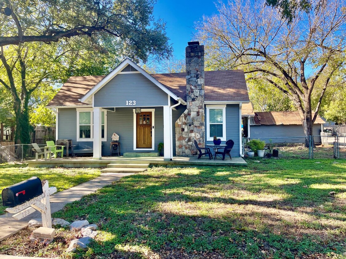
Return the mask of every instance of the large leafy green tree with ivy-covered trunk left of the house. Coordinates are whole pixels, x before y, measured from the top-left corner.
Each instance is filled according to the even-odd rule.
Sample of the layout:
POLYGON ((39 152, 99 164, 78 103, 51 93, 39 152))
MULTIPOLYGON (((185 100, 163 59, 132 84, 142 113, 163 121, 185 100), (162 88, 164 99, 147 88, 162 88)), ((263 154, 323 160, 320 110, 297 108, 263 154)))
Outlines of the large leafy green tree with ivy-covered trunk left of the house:
POLYGON ((35 91, 57 77, 106 70, 95 69, 98 55, 93 54, 104 57, 109 53, 103 51, 113 48, 112 55, 136 61, 170 56, 165 24, 153 20, 153 5, 152 0, 0 2, 0 84, 12 97, 16 143, 30 141, 29 104, 35 91), (76 44, 74 37, 94 50, 76 44))

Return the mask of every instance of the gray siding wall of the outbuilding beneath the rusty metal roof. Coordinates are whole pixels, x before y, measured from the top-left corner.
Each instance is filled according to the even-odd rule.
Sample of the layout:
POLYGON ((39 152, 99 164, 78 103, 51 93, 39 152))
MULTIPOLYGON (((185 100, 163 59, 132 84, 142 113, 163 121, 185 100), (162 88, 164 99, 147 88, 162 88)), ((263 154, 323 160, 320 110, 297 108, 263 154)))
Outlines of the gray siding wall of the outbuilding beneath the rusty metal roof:
MULTIPOLYGON (((312 132, 315 136, 320 135, 321 124, 314 124, 312 132)), ((303 143, 305 141, 302 125, 253 125, 250 126, 250 138, 267 138, 268 141, 272 138, 273 143, 303 143), (275 140, 276 137, 284 138, 275 140)), ((320 137, 315 137, 314 140, 317 143, 321 142, 320 137)))

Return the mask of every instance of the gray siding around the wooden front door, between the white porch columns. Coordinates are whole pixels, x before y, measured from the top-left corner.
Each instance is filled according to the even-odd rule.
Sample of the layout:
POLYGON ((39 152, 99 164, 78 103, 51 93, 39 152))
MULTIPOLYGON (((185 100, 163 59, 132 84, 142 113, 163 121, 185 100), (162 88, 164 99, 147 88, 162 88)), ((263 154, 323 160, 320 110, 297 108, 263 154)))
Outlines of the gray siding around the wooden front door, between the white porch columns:
MULTIPOLYGON (((150 107, 148 107, 150 108, 150 107)), ((163 142, 163 107, 155 108, 155 151, 144 152, 157 152, 157 145, 163 142)), ((140 152, 133 150, 133 109, 132 108, 116 108, 115 112, 107 112, 107 142, 102 142, 102 155, 110 155, 110 142, 112 141, 113 133, 119 135, 120 152, 140 152)))

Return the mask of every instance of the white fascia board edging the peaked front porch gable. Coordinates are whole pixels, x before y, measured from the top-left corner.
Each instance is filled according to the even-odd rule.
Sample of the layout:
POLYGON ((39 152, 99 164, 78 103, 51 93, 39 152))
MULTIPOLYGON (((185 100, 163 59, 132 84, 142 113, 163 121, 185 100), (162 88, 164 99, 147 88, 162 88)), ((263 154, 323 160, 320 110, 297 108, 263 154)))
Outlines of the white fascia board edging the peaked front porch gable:
POLYGON ((147 71, 145 71, 143 68, 138 66, 136 63, 134 63, 129 58, 126 58, 123 60, 113 71, 111 71, 107 76, 105 76, 99 83, 97 83, 93 88, 89 90, 88 93, 86 93, 82 98, 78 99, 80 102, 85 103, 87 100, 90 99, 90 97, 95 94, 98 90, 100 90, 104 85, 106 85, 113 77, 115 77, 117 74, 121 72, 122 69, 124 69, 127 65, 133 66, 135 69, 137 69, 142 75, 144 75, 146 78, 148 78, 150 81, 152 81, 156 86, 158 86, 161 90, 163 90, 166 94, 171 96, 173 99, 178 100, 179 97, 173 94, 170 90, 168 90, 166 87, 164 87, 159 81, 157 81, 154 77, 149 75, 147 71))

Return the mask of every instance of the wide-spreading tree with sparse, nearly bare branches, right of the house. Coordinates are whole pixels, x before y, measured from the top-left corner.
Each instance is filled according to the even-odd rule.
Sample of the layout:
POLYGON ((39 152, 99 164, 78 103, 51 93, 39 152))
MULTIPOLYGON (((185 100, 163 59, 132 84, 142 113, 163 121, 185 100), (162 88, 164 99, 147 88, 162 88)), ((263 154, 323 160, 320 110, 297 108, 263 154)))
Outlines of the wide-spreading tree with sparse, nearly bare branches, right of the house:
POLYGON ((219 15, 197 26, 209 55, 206 63, 244 69, 248 79, 262 79, 281 90, 298 110, 305 135, 312 135, 330 79, 345 60, 345 2, 328 1, 318 13, 300 12, 289 24, 263 1, 256 3, 264 8, 239 0, 220 4, 219 15), (316 82, 322 88, 313 115, 316 82))

